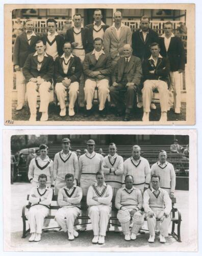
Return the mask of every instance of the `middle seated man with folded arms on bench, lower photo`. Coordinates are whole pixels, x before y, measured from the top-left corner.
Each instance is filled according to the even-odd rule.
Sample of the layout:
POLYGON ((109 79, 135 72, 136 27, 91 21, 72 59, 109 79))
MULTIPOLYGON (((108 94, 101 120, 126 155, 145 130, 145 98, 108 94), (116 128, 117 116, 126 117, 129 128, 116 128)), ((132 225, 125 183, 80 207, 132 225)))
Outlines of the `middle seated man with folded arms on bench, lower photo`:
POLYGON ((97 183, 91 185, 87 193, 88 212, 92 223, 93 244, 104 244, 111 213, 112 187, 106 185, 103 171, 96 173, 97 183))

